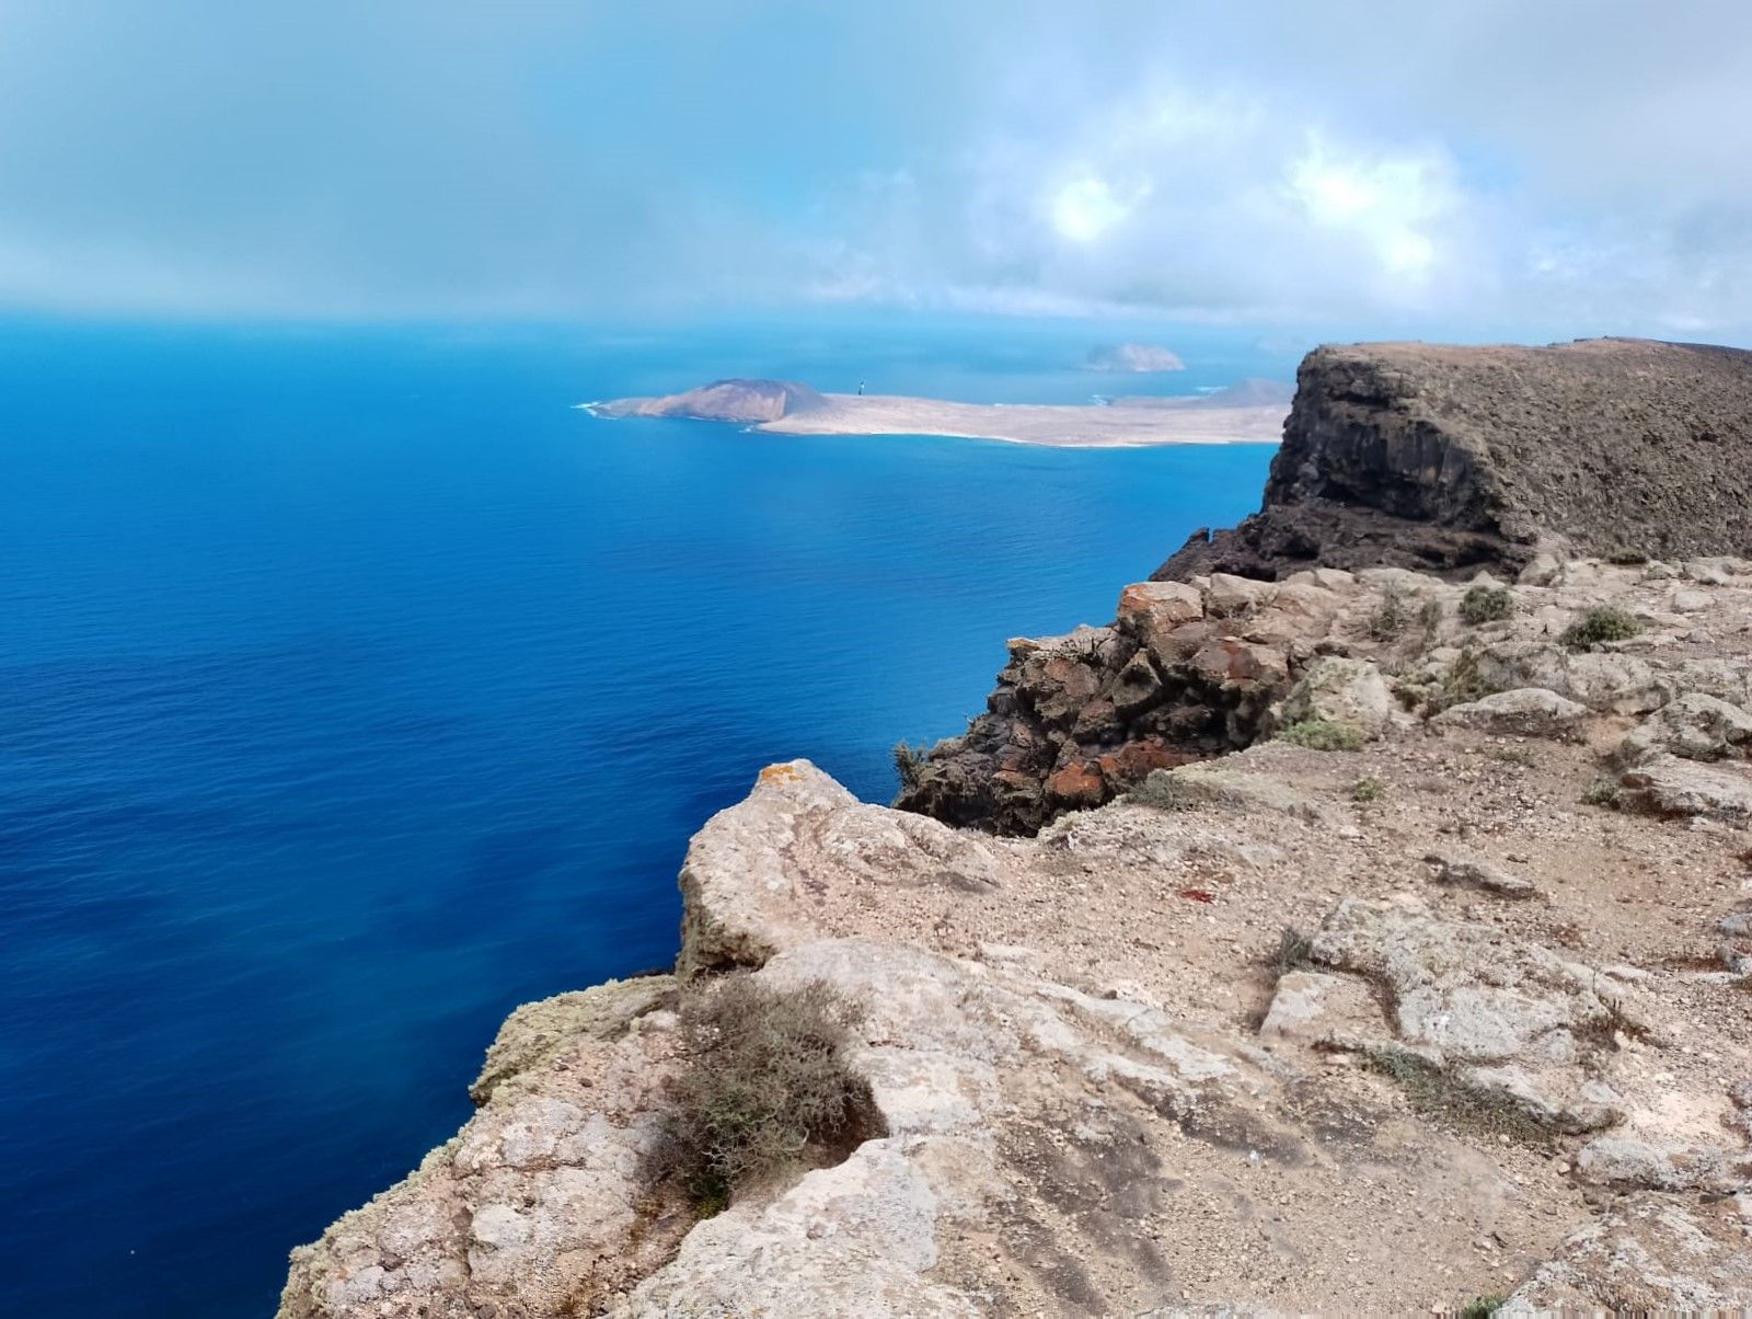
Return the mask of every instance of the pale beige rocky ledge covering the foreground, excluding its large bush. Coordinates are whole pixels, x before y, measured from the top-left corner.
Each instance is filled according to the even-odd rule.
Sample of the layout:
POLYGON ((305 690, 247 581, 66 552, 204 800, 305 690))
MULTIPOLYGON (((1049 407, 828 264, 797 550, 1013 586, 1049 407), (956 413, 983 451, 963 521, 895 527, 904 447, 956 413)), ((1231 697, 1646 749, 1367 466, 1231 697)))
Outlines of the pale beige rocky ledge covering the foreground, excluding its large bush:
POLYGON ((676 975, 519 1009, 280 1315, 1752 1308, 1752 563, 1127 596, 1295 619, 1281 737, 1032 838, 767 768, 676 975), (641 1156, 732 968, 864 1005, 887 1135, 699 1219, 641 1156))

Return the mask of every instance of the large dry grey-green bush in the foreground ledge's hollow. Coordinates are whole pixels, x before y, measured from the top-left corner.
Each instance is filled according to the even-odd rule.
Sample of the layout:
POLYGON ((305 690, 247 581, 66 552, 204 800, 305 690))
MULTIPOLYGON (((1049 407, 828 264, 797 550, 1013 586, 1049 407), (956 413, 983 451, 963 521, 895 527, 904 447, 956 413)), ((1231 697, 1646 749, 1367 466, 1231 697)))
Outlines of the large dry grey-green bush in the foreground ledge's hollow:
POLYGON ((666 1087, 646 1180, 713 1214, 738 1191, 837 1163, 883 1135, 869 1082, 843 1058, 860 1016, 820 980, 780 993, 734 975, 689 991, 687 1061, 666 1087))

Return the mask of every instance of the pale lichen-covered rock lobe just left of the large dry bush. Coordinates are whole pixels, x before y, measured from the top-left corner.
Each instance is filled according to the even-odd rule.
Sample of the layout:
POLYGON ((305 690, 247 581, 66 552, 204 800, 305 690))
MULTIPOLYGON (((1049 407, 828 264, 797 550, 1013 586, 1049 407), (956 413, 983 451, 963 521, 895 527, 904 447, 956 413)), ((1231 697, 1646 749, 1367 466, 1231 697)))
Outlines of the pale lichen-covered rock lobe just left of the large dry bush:
POLYGON ((293 1251, 280 1319, 564 1314, 653 1270, 680 1219, 643 1210, 671 977, 520 1009, 480 1112, 417 1172, 293 1251))

